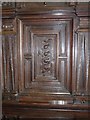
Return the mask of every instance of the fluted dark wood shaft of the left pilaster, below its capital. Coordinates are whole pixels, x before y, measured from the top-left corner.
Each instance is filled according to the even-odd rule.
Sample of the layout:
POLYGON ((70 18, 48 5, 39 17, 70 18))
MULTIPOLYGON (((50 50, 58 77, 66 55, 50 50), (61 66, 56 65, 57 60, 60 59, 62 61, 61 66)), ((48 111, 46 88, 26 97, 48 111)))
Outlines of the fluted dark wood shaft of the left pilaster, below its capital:
POLYGON ((15 90, 14 36, 3 36, 3 84, 4 90, 15 90))

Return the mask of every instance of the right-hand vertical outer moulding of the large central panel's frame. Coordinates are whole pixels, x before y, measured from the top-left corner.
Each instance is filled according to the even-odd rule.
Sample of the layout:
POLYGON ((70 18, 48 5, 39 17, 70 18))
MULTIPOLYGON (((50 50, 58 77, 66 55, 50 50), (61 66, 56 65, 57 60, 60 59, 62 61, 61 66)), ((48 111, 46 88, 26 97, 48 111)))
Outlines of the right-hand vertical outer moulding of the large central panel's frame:
POLYGON ((66 35, 65 35, 65 40, 66 40, 66 56, 67 56, 67 65, 66 65, 66 69, 67 69, 67 81, 66 81, 66 84, 67 84, 67 89, 71 91, 71 83, 72 83, 72 80, 71 80, 71 75, 72 75, 72 71, 71 71, 71 66, 72 66, 72 26, 71 26, 71 22, 68 22, 67 23, 67 26, 66 26, 66 35))

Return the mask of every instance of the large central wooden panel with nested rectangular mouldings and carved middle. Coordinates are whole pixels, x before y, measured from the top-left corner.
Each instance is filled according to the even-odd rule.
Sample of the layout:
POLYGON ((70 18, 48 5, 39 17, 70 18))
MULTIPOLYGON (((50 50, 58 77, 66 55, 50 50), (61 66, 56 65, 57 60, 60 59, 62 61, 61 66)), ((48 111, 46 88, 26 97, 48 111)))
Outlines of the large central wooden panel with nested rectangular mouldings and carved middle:
POLYGON ((38 101, 46 95, 70 95, 72 20, 22 19, 18 24, 21 96, 38 101))

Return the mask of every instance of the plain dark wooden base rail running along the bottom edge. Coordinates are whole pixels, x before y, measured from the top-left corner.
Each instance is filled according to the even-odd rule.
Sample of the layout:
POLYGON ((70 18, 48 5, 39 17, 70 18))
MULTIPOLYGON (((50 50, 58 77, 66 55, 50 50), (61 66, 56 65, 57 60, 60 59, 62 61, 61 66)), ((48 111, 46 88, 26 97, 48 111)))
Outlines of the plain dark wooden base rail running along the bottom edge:
POLYGON ((89 109, 86 105, 8 102, 3 103, 3 115, 3 120, 89 120, 89 109))

